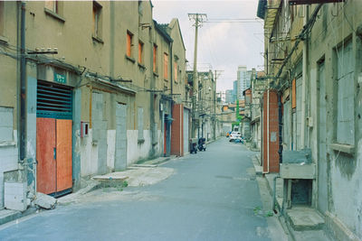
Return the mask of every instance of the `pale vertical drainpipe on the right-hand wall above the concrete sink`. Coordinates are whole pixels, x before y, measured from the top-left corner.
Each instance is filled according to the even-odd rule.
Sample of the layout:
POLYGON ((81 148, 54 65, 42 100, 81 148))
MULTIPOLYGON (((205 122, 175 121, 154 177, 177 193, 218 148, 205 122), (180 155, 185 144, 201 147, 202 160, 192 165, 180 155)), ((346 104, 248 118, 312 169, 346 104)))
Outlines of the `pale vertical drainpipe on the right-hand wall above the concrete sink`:
MULTIPOLYGON (((305 6, 305 14, 303 18, 303 25, 305 26, 308 23, 309 17, 309 7, 305 6)), ((306 139, 306 92, 307 92, 307 74, 308 74, 308 38, 305 38, 303 43, 303 69, 302 69, 302 86, 301 86, 301 144, 302 148, 305 147, 305 139, 306 139)))

